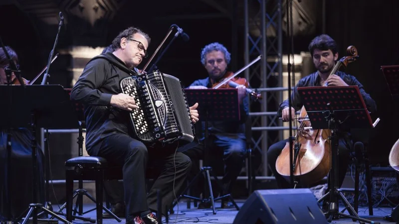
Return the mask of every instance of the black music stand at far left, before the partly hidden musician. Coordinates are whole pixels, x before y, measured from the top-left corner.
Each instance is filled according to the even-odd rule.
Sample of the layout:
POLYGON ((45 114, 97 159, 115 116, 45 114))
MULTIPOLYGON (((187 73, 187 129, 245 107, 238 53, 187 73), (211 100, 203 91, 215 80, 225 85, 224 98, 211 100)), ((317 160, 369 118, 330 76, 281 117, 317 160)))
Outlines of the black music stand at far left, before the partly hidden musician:
MULTIPOLYGON (((32 178, 33 178, 33 202, 29 205, 29 211, 22 224, 26 224, 32 215, 33 224, 37 224, 39 211, 51 214, 63 223, 70 224, 67 220, 57 216, 54 212, 43 207, 37 202, 37 152, 36 152, 36 128, 74 128, 77 127, 77 119, 70 114, 68 96, 62 86, 0 86, 0 96, 11 94, 11 102, 4 101, 3 105, 8 110, 1 110, 0 117, 3 127, 30 127, 32 129, 32 178), (60 117, 62 117, 60 119, 60 117)), ((16 221, 18 222, 19 219, 16 221)))

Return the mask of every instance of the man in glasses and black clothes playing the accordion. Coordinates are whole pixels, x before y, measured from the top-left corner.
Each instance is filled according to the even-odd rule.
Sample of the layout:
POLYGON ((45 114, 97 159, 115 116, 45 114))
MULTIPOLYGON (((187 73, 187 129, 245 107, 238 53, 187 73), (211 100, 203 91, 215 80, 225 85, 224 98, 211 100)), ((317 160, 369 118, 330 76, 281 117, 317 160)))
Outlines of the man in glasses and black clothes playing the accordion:
MULTIPOLYGON (((86 150, 111 164, 122 166, 125 189, 126 223, 158 224, 157 191, 162 197, 163 215, 179 195, 191 168, 191 160, 177 152, 177 144, 144 144, 137 140, 129 112, 137 110, 135 99, 121 93, 123 78, 136 76, 136 67, 148 56, 150 37, 142 30, 129 27, 112 41, 113 52, 103 54, 85 66, 72 88, 71 99, 85 106, 86 150), (146 191, 146 171, 154 168, 154 184, 146 191)), ((198 104, 190 109, 197 122, 198 104)))

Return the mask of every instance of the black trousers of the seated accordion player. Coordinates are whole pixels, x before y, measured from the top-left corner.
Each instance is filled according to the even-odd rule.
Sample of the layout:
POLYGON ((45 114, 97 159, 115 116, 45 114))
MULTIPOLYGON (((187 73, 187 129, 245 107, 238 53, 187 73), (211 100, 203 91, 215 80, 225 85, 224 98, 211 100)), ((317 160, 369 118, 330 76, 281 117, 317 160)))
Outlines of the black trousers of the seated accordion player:
POLYGON ((162 214, 179 195, 191 168, 191 160, 177 152, 176 144, 149 146, 126 134, 106 137, 98 150, 88 150, 93 156, 106 158, 110 163, 123 165, 123 186, 126 204, 126 218, 133 218, 140 212, 157 211, 157 191, 162 197, 162 214), (146 171, 152 167, 155 182, 147 194, 146 171))

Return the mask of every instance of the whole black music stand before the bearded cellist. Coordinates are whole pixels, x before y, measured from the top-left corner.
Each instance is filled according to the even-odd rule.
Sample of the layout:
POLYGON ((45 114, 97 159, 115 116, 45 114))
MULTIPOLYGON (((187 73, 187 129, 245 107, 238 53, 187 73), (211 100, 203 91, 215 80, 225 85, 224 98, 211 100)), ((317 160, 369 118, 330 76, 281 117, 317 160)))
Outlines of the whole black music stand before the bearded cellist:
POLYGON ((321 202, 330 195, 330 207, 326 212, 329 215, 328 222, 332 221, 334 215, 340 215, 365 223, 379 224, 370 220, 362 219, 352 208, 345 196, 339 191, 338 186, 338 134, 341 130, 349 128, 372 128, 373 122, 370 114, 359 92, 358 86, 347 87, 298 87, 301 101, 308 113, 312 129, 330 129, 331 136, 331 171, 330 191, 321 197, 321 202), (351 215, 340 213, 338 210, 338 199, 346 205, 351 215))

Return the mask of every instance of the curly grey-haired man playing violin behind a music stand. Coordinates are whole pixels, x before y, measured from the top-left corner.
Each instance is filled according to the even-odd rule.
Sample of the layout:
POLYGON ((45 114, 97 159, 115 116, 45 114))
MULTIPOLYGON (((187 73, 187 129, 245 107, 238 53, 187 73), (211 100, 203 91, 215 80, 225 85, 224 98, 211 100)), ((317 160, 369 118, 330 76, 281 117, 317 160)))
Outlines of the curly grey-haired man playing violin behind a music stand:
MULTIPOLYGON (((210 43, 202 49, 201 63, 206 69, 208 77, 196 80, 190 85, 190 89, 211 88, 212 85, 221 82, 225 77, 232 74, 232 72, 227 70, 227 65, 230 63, 230 53, 220 43, 210 43)), ((240 174, 246 149, 244 123, 248 116, 249 99, 244 85, 239 85, 236 88, 238 89, 238 101, 240 105, 240 121, 226 122, 220 120, 208 122, 209 139, 207 142, 208 147, 210 147, 208 150, 212 155, 211 157, 222 157, 224 163, 222 184, 227 192, 222 192, 222 195, 231 193, 234 182, 240 174)), ((204 128, 204 124, 202 124, 202 128, 204 128)), ((193 178, 200 171, 198 162, 204 156, 203 140, 204 137, 201 136, 197 146, 184 151, 193 161, 193 168, 189 179, 193 178)), ((215 162, 220 163, 219 161, 215 162)), ((199 184, 198 186, 199 189, 202 189, 203 184, 199 184)), ((222 203, 224 208, 232 208, 231 203, 227 201, 222 201, 222 203)), ((199 204, 199 208, 209 208, 210 206, 211 204, 206 202, 199 204)))

